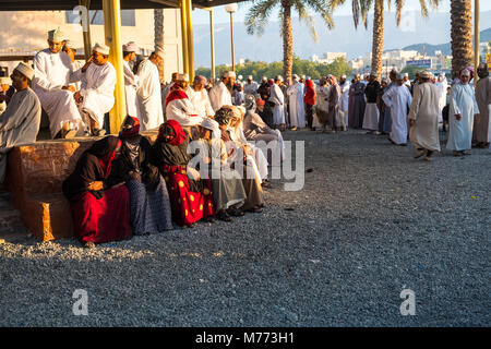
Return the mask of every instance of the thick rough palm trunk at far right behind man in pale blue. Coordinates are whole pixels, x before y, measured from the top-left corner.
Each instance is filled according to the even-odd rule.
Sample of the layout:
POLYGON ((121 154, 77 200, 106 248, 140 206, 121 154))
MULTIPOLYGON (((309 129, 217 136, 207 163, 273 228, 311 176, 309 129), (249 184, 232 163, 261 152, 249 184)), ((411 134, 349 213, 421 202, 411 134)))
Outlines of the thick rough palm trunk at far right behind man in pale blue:
POLYGON ((452 77, 472 65, 472 3, 471 0, 451 1, 452 77))

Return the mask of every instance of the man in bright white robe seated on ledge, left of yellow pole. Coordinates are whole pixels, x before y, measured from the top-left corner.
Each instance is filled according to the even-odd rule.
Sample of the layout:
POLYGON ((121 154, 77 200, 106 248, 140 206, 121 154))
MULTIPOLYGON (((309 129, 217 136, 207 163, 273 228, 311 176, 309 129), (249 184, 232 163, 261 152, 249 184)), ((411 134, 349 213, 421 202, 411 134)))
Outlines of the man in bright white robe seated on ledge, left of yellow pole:
POLYGON ((48 33, 48 45, 34 56, 33 91, 48 115, 51 137, 70 139, 83 129, 72 85, 80 80, 80 71, 73 71, 70 57, 62 51, 63 34, 59 28, 48 33))

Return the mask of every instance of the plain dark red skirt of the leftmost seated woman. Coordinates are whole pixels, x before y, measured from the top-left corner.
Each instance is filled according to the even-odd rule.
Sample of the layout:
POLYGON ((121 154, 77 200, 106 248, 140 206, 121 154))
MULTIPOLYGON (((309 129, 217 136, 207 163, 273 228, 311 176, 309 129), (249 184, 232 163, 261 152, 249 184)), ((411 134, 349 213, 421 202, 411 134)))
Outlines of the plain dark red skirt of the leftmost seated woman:
POLYGON ((125 185, 105 191, 97 200, 83 192, 70 201, 75 237, 82 242, 103 243, 129 239, 130 193, 125 185))

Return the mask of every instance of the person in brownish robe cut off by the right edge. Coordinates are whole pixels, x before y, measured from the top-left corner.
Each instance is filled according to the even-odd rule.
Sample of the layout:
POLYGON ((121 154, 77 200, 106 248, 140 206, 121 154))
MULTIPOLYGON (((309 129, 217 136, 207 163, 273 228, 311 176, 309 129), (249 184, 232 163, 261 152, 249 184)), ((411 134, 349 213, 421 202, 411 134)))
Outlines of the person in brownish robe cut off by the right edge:
POLYGON ((479 81, 476 84, 476 100, 480 111, 480 120, 475 123, 476 146, 488 148, 491 142, 491 76, 489 75, 488 64, 480 64, 477 69, 479 81))

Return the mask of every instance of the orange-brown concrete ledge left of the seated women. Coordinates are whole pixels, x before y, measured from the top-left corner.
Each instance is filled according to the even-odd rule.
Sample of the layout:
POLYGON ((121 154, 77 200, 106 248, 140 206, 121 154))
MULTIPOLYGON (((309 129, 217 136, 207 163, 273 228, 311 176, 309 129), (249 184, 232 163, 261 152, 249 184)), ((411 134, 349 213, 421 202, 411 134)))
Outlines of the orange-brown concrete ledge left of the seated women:
MULTIPOLYGON (((153 143, 157 131, 143 132, 153 143)), ((51 140, 14 147, 8 157, 4 188, 22 222, 38 240, 73 236, 70 204, 61 191, 80 156, 100 137, 51 140)))

